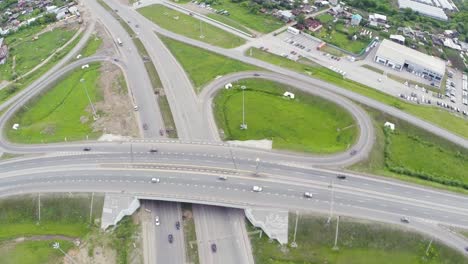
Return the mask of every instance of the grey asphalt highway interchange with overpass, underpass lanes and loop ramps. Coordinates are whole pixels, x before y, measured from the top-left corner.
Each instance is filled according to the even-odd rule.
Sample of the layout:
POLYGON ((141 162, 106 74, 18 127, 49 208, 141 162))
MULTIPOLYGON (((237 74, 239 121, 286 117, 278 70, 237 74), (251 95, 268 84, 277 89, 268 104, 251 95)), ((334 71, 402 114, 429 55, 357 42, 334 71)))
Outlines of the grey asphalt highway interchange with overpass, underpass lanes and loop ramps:
MULTIPOLYGON (((116 45, 119 61, 113 63, 125 71, 134 95, 133 100, 140 109, 140 123, 147 123, 149 126, 147 131, 143 131, 143 136, 158 137, 159 129, 163 126, 161 115, 135 46, 121 25, 105 9, 95 1, 84 0, 84 3, 90 7, 93 18, 99 19, 113 38, 119 37, 123 40, 122 47, 116 45)), ((409 227, 436 235, 438 239, 460 251, 468 245, 466 240, 442 232, 438 228, 438 224, 468 228, 468 197, 395 180, 356 174, 348 174, 345 180, 337 180, 338 172, 318 168, 349 165, 365 158, 371 149, 374 134, 369 117, 360 107, 342 96, 392 114, 468 147, 465 138, 349 90, 246 57, 236 50, 214 47, 163 30, 127 6, 113 1, 109 4, 119 10, 119 15, 124 20, 131 21, 132 25, 139 24, 136 32, 160 74, 182 140, 142 139, 131 142, 28 146, 9 143, 3 136, 3 128, 8 118, 25 102, 53 80, 82 63, 111 60, 111 58, 90 57, 66 67, 63 67, 64 60, 59 67, 62 69, 56 67, 54 71, 49 71, 18 94, 14 98, 15 101, 9 101, 11 108, 0 117, 1 149, 16 153, 47 153, 42 156, 34 155, 0 162, 0 196, 36 191, 124 192, 141 198, 236 208, 274 207, 313 210, 330 215, 350 215, 391 223, 399 223, 400 217, 407 215, 411 219, 409 227), (154 31, 262 67, 270 72, 245 72, 223 76, 205 87, 197 96, 184 70, 154 31), (213 95, 227 82, 253 77, 288 83, 338 103, 350 111, 361 132, 357 143, 352 147, 353 150, 357 150, 357 154, 351 155, 348 151, 329 156, 307 156, 233 147, 220 142, 211 109, 213 95), (83 152, 84 146, 91 146, 92 150, 83 152), (149 153, 150 146, 157 148, 158 152, 149 153), (256 161, 257 159, 260 161, 256 161), (256 170, 258 174, 254 175, 253 172, 256 170), (228 180, 220 181, 219 175, 226 175, 228 180), (155 176, 160 178, 160 183, 150 183, 151 177, 155 176), (263 192, 253 192, 253 185, 262 186, 263 192), (313 197, 305 198, 303 195, 305 191, 312 192, 313 197)), ((88 29, 85 36, 89 36, 89 32, 88 29)), ((183 263, 185 261, 185 254, 181 254, 184 249, 183 235, 179 237, 179 233, 174 233, 173 244, 165 243, 171 229, 176 232, 175 220, 180 219, 178 204, 157 203, 149 206, 152 208, 152 214, 158 214, 161 221, 161 228, 154 229, 154 240, 158 240, 155 258, 162 262, 174 259, 174 263, 183 263), (174 222, 172 227, 171 222, 174 222), (177 256, 174 258, 173 255, 177 256)), ((197 229, 202 230, 198 234, 198 242, 203 243, 199 245, 202 248, 200 256, 203 263, 217 263, 218 258, 226 256, 238 259, 240 261, 238 263, 251 262, 248 252, 250 248, 246 247, 245 239, 242 241, 241 237, 237 237, 234 239, 237 242, 233 240, 229 243, 223 240, 223 236, 245 232, 245 227, 243 229, 239 222, 239 215, 235 213, 231 215, 233 219, 239 221, 229 222, 229 219, 223 219, 228 209, 223 209, 226 210, 224 213, 216 210, 219 208, 200 207, 195 210, 196 219, 198 218, 197 229), (209 234, 206 228, 209 215, 216 219, 213 222, 216 223, 213 234, 209 234), (218 241, 219 255, 212 255, 211 248, 206 247, 206 243, 210 243, 207 241, 218 241)))

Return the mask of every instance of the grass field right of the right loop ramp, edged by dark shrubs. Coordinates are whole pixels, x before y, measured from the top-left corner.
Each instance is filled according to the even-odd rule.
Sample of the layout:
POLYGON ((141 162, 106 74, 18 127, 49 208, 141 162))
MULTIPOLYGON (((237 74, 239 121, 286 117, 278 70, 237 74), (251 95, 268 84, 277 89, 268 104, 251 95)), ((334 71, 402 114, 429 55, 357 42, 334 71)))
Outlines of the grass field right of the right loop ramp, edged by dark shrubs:
POLYGON ((465 185, 468 190, 468 150, 392 116, 367 110, 376 126, 376 143, 369 159, 351 169, 451 190, 465 185), (384 133, 386 121, 395 124, 395 132, 384 133))

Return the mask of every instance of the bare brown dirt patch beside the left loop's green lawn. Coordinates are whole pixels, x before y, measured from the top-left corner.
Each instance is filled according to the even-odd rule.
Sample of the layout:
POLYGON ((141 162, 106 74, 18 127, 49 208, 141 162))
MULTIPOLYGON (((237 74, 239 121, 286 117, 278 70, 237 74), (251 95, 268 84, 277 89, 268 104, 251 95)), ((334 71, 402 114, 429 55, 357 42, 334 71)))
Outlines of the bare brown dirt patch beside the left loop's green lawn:
POLYGON ((103 63, 99 86, 103 100, 96 104, 99 119, 93 124, 94 131, 122 136, 138 136, 135 112, 127 92, 122 71, 115 65, 103 63))

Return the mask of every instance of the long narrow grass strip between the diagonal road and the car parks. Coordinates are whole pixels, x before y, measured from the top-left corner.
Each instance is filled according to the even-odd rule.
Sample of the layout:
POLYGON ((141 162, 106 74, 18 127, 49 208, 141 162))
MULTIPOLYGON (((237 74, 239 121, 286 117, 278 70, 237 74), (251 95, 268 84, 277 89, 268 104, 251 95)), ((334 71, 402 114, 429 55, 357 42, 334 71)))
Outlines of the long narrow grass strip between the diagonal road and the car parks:
MULTIPOLYGON (((248 50, 246 54, 250 54, 250 51, 248 50)), ((439 107, 421 106, 404 102, 399 98, 377 91, 376 89, 373 89, 369 86, 344 79, 341 75, 338 75, 337 73, 327 68, 317 66, 316 64, 314 65, 308 60, 303 59, 302 61, 294 62, 290 59, 286 59, 256 48, 253 48, 252 56, 271 64, 289 68, 291 70, 335 84, 344 89, 362 94, 417 116, 465 138, 468 138, 468 121, 464 118, 458 117, 452 113, 440 109, 439 107)))

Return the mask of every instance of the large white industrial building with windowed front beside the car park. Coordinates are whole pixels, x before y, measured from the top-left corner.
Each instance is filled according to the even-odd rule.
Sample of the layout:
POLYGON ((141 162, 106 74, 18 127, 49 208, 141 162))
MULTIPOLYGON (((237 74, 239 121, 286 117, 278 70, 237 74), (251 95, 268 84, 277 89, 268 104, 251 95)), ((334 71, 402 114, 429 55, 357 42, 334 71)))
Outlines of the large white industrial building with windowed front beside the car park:
POLYGON ((384 39, 375 53, 374 61, 397 71, 406 70, 439 84, 445 75, 445 62, 384 39))

